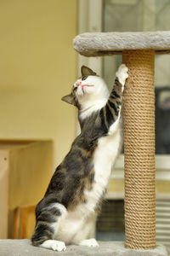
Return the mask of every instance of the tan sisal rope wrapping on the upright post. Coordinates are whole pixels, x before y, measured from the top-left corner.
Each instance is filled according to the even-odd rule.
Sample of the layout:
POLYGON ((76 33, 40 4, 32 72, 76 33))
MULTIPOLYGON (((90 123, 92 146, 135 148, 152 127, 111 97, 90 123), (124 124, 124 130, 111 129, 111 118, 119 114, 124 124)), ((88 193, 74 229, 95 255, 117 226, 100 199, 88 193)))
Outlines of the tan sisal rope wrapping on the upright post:
POLYGON ((156 247, 154 50, 123 51, 129 68, 123 96, 125 245, 156 247))

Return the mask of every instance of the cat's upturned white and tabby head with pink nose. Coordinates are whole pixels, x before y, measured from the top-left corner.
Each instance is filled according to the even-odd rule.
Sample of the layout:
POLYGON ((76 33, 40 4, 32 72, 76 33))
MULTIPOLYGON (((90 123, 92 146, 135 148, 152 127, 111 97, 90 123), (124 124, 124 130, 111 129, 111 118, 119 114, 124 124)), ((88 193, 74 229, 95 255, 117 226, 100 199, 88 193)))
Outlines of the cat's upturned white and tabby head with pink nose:
POLYGON ((82 66, 81 73, 82 77, 73 84, 71 94, 62 97, 62 101, 82 110, 107 98, 109 91, 105 81, 89 67, 82 66))

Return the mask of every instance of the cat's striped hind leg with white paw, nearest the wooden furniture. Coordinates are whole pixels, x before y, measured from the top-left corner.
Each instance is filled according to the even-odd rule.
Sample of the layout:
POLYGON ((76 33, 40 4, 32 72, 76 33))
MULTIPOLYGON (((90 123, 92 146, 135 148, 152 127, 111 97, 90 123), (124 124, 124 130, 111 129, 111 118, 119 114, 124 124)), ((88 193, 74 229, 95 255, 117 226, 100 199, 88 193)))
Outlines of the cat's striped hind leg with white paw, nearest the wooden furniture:
POLYGON ((67 211, 59 203, 53 203, 48 207, 42 207, 37 214, 37 224, 31 237, 33 246, 44 247, 54 251, 64 251, 65 242, 54 240, 59 228, 59 222, 65 218, 67 211))

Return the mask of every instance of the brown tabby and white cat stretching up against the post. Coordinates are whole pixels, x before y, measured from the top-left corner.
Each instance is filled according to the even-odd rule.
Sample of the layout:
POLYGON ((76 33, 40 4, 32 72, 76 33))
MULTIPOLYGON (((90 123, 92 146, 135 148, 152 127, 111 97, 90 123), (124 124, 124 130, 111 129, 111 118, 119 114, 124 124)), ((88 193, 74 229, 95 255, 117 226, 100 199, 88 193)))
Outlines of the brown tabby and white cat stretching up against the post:
POLYGON ((111 167, 122 144, 122 92, 128 77, 122 64, 109 94, 105 81, 88 67, 62 100, 78 109, 81 133, 56 168, 37 204, 32 245, 64 251, 65 244, 97 247, 91 235, 111 167))

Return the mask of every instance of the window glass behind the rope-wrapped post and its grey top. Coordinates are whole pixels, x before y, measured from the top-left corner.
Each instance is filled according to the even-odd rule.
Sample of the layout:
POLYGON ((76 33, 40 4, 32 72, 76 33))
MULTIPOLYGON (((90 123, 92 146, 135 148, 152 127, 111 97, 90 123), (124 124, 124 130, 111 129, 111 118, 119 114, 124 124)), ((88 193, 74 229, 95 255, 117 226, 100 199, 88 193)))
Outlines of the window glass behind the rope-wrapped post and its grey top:
MULTIPOLYGON (((104 32, 170 30, 170 0, 105 0, 104 32)), ((103 58, 111 89, 122 57, 103 58)), ((170 55, 156 55, 156 154, 170 154, 170 55)))

